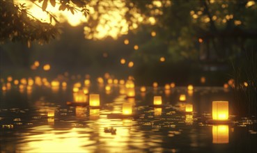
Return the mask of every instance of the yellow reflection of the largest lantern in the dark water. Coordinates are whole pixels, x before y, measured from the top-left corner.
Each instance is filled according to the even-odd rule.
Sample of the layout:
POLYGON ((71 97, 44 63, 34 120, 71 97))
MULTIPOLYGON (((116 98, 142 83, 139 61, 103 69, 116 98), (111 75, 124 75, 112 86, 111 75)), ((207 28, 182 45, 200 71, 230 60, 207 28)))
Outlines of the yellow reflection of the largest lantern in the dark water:
POLYGON ((212 143, 228 143, 229 140, 228 125, 212 126, 212 143))

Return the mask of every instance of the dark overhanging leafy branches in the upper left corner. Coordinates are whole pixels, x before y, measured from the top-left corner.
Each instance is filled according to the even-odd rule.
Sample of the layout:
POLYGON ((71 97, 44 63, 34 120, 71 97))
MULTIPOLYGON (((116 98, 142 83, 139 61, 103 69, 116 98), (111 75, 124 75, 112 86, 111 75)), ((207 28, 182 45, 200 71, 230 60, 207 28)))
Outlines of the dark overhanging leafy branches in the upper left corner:
POLYGON ((55 39, 61 33, 61 26, 59 21, 49 11, 47 11, 48 1, 52 6, 56 6, 56 3, 60 3, 59 10, 70 10, 74 14, 75 11, 81 11, 86 16, 88 10, 86 10, 86 3, 82 0, 38 0, 42 2, 42 6, 36 4, 36 0, 31 0, 35 5, 42 8, 49 15, 51 22, 57 24, 53 26, 51 23, 45 23, 33 17, 29 12, 29 8, 25 3, 20 5, 15 4, 12 0, 0 0, 0 13, 1 13, 1 31, 0 42, 7 41, 13 42, 26 42, 30 47, 32 41, 38 41, 40 44, 49 42, 49 40, 55 39), (70 3, 75 3, 76 6, 72 6, 70 3), (81 8, 79 10, 78 8, 81 8))

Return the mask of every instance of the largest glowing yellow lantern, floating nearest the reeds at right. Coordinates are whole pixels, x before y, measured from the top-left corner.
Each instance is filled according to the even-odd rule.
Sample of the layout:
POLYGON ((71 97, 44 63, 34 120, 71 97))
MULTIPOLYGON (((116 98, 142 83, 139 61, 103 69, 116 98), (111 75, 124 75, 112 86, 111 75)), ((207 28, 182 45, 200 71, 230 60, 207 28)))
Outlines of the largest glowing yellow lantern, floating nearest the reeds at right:
POLYGON ((228 101, 212 102, 212 119, 228 120, 228 101))

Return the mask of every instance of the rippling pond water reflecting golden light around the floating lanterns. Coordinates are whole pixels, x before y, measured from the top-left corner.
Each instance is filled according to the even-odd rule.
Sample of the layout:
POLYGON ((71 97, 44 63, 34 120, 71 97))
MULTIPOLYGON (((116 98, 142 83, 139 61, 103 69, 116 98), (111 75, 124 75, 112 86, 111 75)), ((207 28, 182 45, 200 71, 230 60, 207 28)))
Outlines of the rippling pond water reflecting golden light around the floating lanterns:
MULTIPOLYGON (((118 93, 118 89, 117 91, 114 89, 113 92, 118 93)), ((159 90, 154 92, 158 95, 162 93, 159 90)), ((162 108, 148 106, 153 104, 151 101, 153 93, 149 92, 143 98, 139 94, 138 97, 130 99, 114 93, 103 95, 105 97, 101 100, 102 108, 95 109, 66 106, 65 102, 61 103, 58 100, 47 102, 47 96, 40 98, 40 101, 35 99, 28 108, 19 105, 15 108, 5 108, 5 105, 1 105, 1 150, 3 152, 208 152, 210 150, 229 152, 237 150, 238 146, 235 144, 241 144, 239 148, 247 146, 247 143, 240 141, 238 135, 245 136, 242 138, 244 142, 256 143, 253 140, 253 135, 256 136, 256 121, 244 118, 238 124, 229 126, 205 124, 203 119, 210 118, 211 114, 206 109, 211 106, 211 103, 206 102, 210 92, 203 94, 202 97, 197 97, 198 92, 194 92, 194 95, 187 97, 189 103, 194 105, 194 110, 190 113, 184 112, 187 102, 178 102, 182 92, 182 89, 172 90, 169 97, 164 97, 167 93, 163 92, 166 106, 162 108), (107 99, 107 102, 104 102, 104 99, 107 99), (136 118, 108 118, 110 113, 122 113, 124 102, 133 104, 133 112, 139 115, 136 118), (116 132, 105 130, 111 128, 116 132), (247 132, 246 128, 250 128, 251 131, 247 132), (13 145, 15 147, 10 147, 13 145)), ((33 96, 35 95, 32 92, 29 98, 33 100, 33 96)), ((52 98, 60 99, 58 96, 52 98)), ((256 150, 256 147, 251 145, 249 148, 256 150)))

